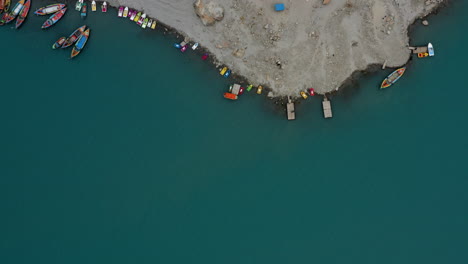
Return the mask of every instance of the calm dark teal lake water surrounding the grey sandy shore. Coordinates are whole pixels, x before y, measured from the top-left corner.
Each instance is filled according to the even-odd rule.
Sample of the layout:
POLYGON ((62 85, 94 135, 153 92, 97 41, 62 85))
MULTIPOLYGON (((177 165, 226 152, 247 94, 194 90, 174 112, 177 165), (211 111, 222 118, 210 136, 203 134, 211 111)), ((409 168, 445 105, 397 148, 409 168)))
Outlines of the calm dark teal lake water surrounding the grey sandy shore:
POLYGON ((232 80, 115 9, 1 27, 0 263, 467 263, 468 2, 453 2, 412 34, 435 57, 292 122, 253 92, 224 99, 232 80), (50 48, 83 24, 75 60, 50 48))

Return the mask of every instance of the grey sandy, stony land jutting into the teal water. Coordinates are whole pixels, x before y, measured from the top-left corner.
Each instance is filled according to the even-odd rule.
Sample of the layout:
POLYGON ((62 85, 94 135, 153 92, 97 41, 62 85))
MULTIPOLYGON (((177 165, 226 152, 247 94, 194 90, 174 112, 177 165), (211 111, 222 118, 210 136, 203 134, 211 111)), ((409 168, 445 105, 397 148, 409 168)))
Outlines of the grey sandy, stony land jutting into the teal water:
MULTIPOLYGON (((204 0, 209 2, 210 0, 204 0)), ((111 0, 146 12, 212 52, 220 64, 275 96, 338 89, 371 64, 407 62, 408 26, 443 0, 212 0, 222 21, 204 26, 194 0, 111 0), (275 3, 286 10, 275 12, 275 3)), ((168 44, 172 45, 172 43, 168 44)))

